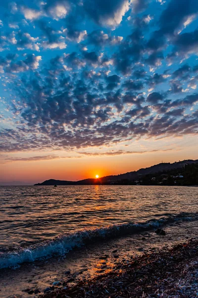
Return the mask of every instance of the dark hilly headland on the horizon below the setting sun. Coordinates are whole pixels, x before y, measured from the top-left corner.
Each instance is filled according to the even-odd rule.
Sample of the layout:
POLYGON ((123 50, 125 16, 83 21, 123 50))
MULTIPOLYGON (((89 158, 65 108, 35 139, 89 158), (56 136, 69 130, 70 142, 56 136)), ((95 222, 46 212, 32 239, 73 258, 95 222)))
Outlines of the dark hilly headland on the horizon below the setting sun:
POLYGON ((66 181, 49 179, 39 185, 177 185, 198 186, 198 159, 179 162, 162 162, 138 171, 110 175, 98 179, 66 181))

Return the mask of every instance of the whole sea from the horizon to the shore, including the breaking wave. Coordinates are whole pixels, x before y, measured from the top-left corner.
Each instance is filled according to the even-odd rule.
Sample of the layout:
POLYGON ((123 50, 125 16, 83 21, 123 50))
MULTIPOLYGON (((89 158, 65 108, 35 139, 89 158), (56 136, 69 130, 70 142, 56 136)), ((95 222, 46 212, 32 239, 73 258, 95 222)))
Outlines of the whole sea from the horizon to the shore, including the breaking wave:
POLYGON ((62 255, 103 238, 196 220, 196 187, 0 187, 0 268, 62 255))

